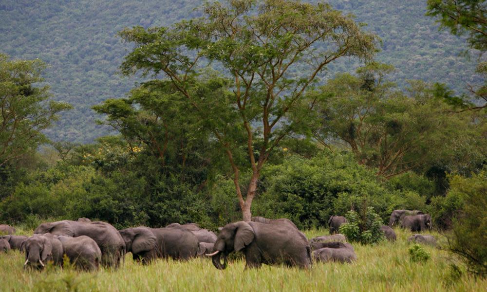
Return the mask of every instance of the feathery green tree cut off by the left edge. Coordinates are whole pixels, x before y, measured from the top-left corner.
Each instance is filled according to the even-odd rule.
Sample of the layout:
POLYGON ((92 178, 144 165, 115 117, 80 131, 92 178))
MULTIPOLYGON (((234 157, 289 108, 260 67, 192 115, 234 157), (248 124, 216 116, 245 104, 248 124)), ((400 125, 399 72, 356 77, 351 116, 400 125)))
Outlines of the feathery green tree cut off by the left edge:
POLYGON ((0 54, 0 167, 48 142, 42 130, 71 108, 50 100, 48 86, 36 87, 45 67, 38 59, 10 60, 0 54))

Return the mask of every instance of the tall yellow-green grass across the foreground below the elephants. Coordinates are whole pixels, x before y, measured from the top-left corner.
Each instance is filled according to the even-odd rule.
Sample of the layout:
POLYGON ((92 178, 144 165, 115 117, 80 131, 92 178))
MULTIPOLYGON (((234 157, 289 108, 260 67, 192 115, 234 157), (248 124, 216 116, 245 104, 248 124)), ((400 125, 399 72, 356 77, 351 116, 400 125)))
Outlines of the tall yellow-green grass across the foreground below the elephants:
MULTIPOLYGON (((18 230, 18 234, 31 232, 18 230)), ((308 237, 327 233, 310 230, 308 237)), ((354 245, 354 264, 318 263, 310 271, 263 266, 244 271, 244 261, 230 262, 224 271, 208 259, 189 262, 159 260, 148 266, 134 263, 127 255, 118 270, 100 269, 81 273, 48 267, 24 271, 18 251, 0 254, 1 291, 485 291, 487 280, 465 273, 455 276, 445 251, 425 247, 426 263, 409 259, 409 232, 396 230, 397 242, 374 246, 354 245)), ((436 234, 437 235, 437 234, 436 234)), ((439 235, 437 235, 439 236, 439 235)))

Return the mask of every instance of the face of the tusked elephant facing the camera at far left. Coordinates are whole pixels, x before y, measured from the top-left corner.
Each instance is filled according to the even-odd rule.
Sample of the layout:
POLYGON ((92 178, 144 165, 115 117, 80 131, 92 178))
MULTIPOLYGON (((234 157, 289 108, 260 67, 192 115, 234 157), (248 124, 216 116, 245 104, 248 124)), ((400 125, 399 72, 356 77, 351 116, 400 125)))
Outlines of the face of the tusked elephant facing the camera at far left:
POLYGON ((48 261, 53 259, 53 245, 48 237, 34 235, 22 242, 25 250, 24 267, 42 269, 48 261))

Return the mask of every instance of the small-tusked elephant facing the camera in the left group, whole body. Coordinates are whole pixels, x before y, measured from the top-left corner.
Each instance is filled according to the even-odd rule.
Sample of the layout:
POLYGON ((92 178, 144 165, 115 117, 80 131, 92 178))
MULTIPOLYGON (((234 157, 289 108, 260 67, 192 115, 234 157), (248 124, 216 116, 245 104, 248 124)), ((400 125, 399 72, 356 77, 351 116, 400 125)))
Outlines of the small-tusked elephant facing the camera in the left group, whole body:
POLYGON ((35 234, 22 242, 21 249, 25 251, 24 268, 43 269, 50 261, 62 266, 62 244, 52 234, 35 234))

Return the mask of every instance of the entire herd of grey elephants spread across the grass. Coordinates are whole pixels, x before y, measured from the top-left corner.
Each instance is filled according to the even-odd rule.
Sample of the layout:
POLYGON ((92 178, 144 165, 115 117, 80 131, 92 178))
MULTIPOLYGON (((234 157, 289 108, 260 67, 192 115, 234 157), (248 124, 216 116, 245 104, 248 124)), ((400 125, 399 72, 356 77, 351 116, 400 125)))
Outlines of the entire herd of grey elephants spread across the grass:
MULTIPOLYGON (((227 256, 241 252, 245 268, 259 268, 262 264, 283 264, 308 269, 314 261, 351 263, 357 260, 353 246, 345 236, 337 234, 344 217, 328 220, 329 236, 308 238, 289 219, 252 217, 250 222, 228 223, 219 228, 218 235, 195 223, 169 224, 163 228, 145 226, 116 230, 111 224, 62 220, 40 224, 31 237, 17 236, 15 228, 0 225, 0 252, 17 249, 25 253, 24 266, 42 269, 46 263, 63 265, 63 256, 82 270, 96 270, 100 265, 118 267, 126 253, 135 261, 149 264, 158 258, 187 260, 210 256, 217 269, 225 269, 227 256), (223 262, 222 262, 223 260, 223 262)), ((431 228, 431 217, 419 211, 395 210, 390 226, 400 222, 411 231, 431 228)), ((390 226, 381 230, 387 239, 396 235, 390 226)), ((413 235, 408 241, 435 245, 429 235, 413 235)))

